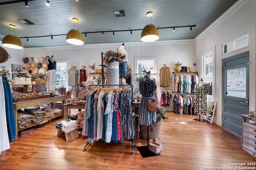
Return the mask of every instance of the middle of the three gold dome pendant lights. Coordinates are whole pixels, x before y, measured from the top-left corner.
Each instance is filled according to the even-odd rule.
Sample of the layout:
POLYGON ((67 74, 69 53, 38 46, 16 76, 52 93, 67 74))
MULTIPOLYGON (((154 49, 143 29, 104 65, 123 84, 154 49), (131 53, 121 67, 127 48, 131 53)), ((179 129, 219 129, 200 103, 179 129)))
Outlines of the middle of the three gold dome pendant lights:
MULTIPOLYGON (((77 18, 72 18, 72 20, 74 21, 74 26, 75 23, 79 21, 77 18)), ((71 29, 70 31, 68 31, 66 41, 73 45, 83 45, 84 37, 78 29, 71 29)))

